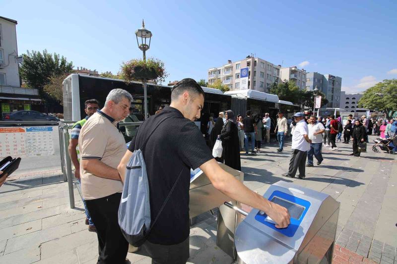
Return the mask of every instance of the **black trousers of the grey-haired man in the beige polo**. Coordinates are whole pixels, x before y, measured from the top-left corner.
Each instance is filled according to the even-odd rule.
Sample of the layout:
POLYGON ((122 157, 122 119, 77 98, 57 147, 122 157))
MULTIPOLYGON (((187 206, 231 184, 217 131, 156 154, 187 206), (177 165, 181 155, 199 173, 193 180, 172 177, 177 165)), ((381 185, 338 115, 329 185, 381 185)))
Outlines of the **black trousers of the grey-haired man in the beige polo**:
POLYGON ((121 193, 103 198, 86 200, 87 209, 98 235, 98 264, 124 264, 128 242, 119 226, 121 193))

